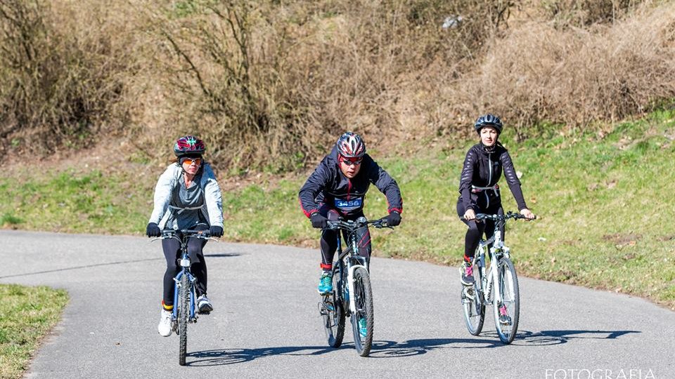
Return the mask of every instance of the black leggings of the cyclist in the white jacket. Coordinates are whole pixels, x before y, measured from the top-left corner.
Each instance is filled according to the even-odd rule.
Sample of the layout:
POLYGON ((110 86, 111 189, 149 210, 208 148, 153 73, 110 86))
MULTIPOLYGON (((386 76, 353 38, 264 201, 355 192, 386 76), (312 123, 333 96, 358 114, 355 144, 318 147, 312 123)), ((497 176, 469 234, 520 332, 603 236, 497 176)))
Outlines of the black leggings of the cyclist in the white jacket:
MULTIPOLYGON (((190 255, 190 260, 192 261, 190 271, 197 278, 197 282, 195 283, 197 296, 206 293, 207 272, 203 252, 206 242, 205 239, 188 239, 188 255, 190 255)), ((181 243, 176 241, 176 239, 162 239, 162 248, 164 249, 164 257, 167 260, 167 271, 164 273, 164 298, 162 300, 168 306, 174 304, 174 277, 181 270, 181 267, 178 265, 178 260, 181 258, 181 243)))

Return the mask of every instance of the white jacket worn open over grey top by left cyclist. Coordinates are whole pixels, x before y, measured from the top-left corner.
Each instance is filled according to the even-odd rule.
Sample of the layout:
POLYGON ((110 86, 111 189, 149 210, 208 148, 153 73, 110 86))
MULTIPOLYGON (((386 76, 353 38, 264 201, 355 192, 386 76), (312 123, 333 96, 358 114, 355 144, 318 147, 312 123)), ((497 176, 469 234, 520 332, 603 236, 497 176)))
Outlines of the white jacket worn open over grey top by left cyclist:
MULTIPOLYGON (((211 169, 210 164, 205 163, 202 168, 202 178, 199 185, 204 193, 204 205, 200 208, 204 218, 209 220, 210 226, 223 227, 223 199, 220 186, 211 169)), ((176 210, 169 207, 172 192, 178 188, 183 169, 177 164, 172 164, 160 175, 155 186, 155 208, 148 222, 155 222, 160 229, 164 229, 169 216, 176 210)))

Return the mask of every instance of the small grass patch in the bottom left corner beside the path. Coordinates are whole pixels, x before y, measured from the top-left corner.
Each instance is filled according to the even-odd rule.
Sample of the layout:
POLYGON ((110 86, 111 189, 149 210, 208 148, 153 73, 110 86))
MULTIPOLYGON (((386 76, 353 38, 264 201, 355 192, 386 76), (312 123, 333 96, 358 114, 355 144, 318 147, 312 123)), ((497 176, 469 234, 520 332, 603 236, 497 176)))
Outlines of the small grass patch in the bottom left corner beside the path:
POLYGON ((0 284, 0 378, 21 378, 41 338, 60 319, 68 293, 0 284))

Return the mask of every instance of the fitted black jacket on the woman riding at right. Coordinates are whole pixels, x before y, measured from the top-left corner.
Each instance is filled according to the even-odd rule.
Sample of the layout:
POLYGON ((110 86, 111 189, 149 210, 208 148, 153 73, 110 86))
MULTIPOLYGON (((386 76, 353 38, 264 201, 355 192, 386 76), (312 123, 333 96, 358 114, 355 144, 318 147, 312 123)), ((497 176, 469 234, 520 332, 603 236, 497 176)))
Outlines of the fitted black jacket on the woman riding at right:
POLYGON ((474 187, 493 187, 501 178, 502 170, 506 176, 506 183, 518 204, 518 210, 527 208, 522 189, 520 189, 520 180, 515 175, 515 168, 513 168, 513 161, 511 161, 508 150, 497 143, 494 149, 489 151, 482 143, 477 143, 466 153, 459 179, 458 203, 463 205, 464 211, 468 208, 480 211, 489 206, 501 204, 499 188, 475 189, 474 187))

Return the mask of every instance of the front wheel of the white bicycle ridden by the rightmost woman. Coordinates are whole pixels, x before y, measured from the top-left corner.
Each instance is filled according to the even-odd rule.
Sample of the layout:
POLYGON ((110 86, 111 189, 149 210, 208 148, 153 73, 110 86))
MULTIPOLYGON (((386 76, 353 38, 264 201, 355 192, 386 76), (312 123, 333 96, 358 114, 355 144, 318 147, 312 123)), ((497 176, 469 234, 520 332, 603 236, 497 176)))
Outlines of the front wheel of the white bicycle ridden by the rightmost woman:
POLYGON ((508 258, 501 258, 497 266, 497 283, 499 298, 493 299, 494 324, 502 343, 511 343, 518 332, 518 318, 520 317, 520 293, 518 291, 518 276, 515 274, 513 262, 508 258), (499 317, 504 315, 500 321, 499 317))

